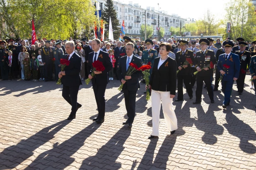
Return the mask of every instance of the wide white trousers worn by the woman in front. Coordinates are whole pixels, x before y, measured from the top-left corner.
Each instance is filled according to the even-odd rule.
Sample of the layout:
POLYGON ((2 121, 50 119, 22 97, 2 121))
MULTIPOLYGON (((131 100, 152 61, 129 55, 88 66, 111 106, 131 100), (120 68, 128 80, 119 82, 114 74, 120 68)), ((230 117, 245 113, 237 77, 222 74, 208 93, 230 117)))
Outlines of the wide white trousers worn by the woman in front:
POLYGON ((178 129, 177 118, 173 110, 172 98, 170 98, 170 92, 160 92, 152 90, 151 101, 152 101, 152 125, 153 130, 152 136, 159 136, 159 116, 161 109, 161 99, 162 107, 164 113, 164 120, 166 122, 167 128, 170 131, 178 129))

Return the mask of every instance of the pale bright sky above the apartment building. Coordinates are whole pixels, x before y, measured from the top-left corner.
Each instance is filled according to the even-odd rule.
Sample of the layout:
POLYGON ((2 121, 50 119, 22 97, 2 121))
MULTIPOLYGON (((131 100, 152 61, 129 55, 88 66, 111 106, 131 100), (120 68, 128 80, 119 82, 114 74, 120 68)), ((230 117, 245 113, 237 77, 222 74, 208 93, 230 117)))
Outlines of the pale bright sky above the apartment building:
POLYGON ((215 15, 216 20, 224 19, 225 16, 225 0, 119 0, 128 4, 128 1, 139 3, 142 8, 147 6, 155 7, 167 11, 167 14, 178 14, 182 18, 194 18, 199 20, 203 14, 210 9, 210 12, 215 15), (182 3, 181 3, 182 2, 182 3))

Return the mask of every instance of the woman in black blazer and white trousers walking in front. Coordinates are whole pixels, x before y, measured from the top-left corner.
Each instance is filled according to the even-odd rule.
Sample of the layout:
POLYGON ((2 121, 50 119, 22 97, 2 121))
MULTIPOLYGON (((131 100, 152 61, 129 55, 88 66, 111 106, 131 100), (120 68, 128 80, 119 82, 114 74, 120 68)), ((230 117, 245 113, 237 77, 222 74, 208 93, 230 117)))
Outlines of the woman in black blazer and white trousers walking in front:
POLYGON ((177 118, 172 106, 173 98, 176 95, 176 61, 168 56, 171 50, 169 43, 162 43, 159 46, 161 57, 155 59, 150 82, 148 87, 151 88, 152 98, 152 125, 153 130, 148 139, 159 136, 159 115, 161 109, 161 100, 164 113, 164 119, 167 128, 174 134, 178 128, 177 118))

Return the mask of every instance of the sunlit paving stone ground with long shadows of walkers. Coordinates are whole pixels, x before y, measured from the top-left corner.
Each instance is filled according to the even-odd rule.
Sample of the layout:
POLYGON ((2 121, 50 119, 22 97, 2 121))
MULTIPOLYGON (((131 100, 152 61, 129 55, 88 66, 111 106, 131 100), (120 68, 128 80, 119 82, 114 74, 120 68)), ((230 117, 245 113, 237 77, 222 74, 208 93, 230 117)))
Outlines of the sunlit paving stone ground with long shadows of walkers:
MULTIPOLYGON (((126 120, 119 81, 106 90, 105 122, 97 115, 91 85, 80 86, 77 118, 66 120, 71 106, 55 82, 0 81, 0 170, 165 170, 256 168, 256 97, 249 89, 236 93, 223 110, 224 95, 217 91, 210 104, 203 89, 201 105, 193 105, 184 89, 184 102, 174 102, 178 130, 170 135, 161 109, 160 136, 152 131, 151 100, 140 84, 132 129, 126 120)), ((176 99, 176 97, 174 98, 176 99)))

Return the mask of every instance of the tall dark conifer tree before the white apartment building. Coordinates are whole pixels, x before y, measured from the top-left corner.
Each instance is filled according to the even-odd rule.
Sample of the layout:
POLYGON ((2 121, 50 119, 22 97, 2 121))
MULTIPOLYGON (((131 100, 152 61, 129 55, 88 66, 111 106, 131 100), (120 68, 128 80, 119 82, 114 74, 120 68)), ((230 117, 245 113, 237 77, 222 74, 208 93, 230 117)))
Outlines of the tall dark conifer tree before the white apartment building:
POLYGON ((119 38, 121 26, 119 24, 119 20, 117 19, 117 12, 114 9, 114 3, 113 0, 106 0, 105 8, 102 11, 101 18, 106 21, 107 24, 105 24, 105 37, 109 37, 109 17, 111 17, 111 24, 113 28, 113 35, 114 39, 119 38))

